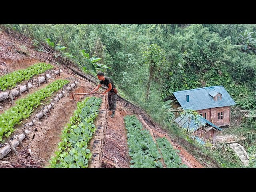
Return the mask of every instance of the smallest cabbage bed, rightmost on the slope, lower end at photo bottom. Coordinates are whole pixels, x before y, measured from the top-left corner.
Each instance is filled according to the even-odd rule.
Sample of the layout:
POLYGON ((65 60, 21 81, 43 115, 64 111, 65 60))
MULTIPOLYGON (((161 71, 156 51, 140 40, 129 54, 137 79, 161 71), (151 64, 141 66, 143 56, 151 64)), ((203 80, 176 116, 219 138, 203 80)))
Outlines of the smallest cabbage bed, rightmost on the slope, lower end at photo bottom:
POLYGON ((177 152, 180 151, 174 150, 170 142, 165 137, 157 138, 156 142, 167 168, 188 168, 186 165, 182 164, 182 160, 177 154, 177 152))

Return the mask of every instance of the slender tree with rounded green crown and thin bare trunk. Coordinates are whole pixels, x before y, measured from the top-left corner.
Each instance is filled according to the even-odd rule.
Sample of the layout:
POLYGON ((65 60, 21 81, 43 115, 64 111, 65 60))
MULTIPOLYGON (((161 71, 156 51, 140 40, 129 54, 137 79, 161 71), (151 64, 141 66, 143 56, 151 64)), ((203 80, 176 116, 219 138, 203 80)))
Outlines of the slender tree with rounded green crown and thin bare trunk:
POLYGON ((148 50, 143 52, 144 63, 149 66, 149 78, 146 91, 146 100, 150 91, 150 84, 152 80, 158 79, 157 74, 162 70, 166 64, 165 51, 160 48, 157 44, 151 44, 148 46, 148 50))

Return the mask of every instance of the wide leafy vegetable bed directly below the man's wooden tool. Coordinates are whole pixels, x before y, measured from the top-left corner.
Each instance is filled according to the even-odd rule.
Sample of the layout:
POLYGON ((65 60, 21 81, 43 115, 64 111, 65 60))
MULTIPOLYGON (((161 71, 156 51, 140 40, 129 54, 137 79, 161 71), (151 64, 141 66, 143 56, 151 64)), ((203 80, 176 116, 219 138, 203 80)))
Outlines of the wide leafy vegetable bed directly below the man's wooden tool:
POLYGON ((98 116, 101 98, 88 97, 77 103, 77 109, 70 118, 70 124, 62 131, 56 156, 50 160, 51 168, 86 168, 92 153, 87 148, 96 128, 93 124, 98 116))

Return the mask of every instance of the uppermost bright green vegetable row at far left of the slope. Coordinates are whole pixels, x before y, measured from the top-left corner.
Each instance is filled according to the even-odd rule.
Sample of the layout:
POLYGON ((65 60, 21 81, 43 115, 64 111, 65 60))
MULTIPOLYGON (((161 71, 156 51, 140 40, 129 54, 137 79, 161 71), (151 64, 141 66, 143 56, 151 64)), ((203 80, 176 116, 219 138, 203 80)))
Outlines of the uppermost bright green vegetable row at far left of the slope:
POLYGON ((30 79, 34 75, 45 72, 48 69, 52 69, 54 66, 46 63, 34 64, 26 69, 14 71, 0 77, 0 88, 6 90, 8 87, 11 89, 16 86, 17 83, 30 79))

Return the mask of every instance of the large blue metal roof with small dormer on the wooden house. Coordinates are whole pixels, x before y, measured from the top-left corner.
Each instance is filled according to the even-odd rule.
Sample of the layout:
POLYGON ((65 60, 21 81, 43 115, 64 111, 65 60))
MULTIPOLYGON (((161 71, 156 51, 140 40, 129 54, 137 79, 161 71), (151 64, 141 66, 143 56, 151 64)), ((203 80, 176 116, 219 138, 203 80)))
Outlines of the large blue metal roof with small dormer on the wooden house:
POLYGON ((176 91, 173 92, 173 94, 183 109, 201 110, 236 104, 224 86, 202 87, 197 89, 176 91), (216 93, 222 94, 221 100, 214 101, 210 93, 215 96, 216 93), (186 95, 189 95, 189 102, 186 101, 186 95))

